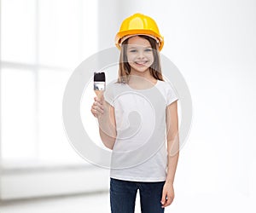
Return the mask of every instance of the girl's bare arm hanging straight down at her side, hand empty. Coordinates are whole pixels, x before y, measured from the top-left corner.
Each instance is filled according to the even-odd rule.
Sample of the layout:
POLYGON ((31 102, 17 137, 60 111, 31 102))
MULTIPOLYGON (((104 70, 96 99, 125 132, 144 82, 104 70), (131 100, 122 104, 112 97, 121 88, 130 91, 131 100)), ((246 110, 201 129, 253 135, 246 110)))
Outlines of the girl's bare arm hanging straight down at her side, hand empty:
POLYGON ((166 107, 166 130, 167 130, 167 176, 163 188, 161 203, 163 207, 172 204, 174 199, 173 181, 177 169, 179 156, 177 101, 166 107))

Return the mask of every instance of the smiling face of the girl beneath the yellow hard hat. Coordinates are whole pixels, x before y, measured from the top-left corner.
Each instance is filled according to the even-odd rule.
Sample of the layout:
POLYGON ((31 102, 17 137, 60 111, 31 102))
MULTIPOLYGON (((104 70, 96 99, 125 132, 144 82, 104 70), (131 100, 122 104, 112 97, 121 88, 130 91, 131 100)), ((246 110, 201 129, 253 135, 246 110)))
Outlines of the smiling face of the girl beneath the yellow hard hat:
POLYGON ((126 55, 131 72, 149 72, 149 67, 154 62, 153 49, 143 37, 129 38, 126 55))

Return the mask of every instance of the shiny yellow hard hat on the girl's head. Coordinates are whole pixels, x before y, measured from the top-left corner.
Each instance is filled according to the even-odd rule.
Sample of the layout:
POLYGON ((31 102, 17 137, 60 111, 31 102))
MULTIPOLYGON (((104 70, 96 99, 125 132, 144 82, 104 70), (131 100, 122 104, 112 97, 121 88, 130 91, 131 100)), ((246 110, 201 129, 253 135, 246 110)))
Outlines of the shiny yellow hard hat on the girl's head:
POLYGON ((147 35, 154 37, 159 43, 159 49, 164 46, 164 37, 160 35, 158 26, 155 21, 144 14, 133 14, 126 18, 119 29, 119 32, 115 36, 115 45, 118 49, 121 48, 121 43, 128 37, 134 35, 147 35))

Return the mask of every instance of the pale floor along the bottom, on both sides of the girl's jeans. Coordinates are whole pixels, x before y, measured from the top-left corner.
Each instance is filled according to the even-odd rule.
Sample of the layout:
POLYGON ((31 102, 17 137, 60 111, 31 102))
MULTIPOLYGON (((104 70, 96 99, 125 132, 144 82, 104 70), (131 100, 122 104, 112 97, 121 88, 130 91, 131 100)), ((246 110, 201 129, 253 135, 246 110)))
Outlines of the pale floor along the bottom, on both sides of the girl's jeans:
MULTIPOLYGON (((33 199, 3 204, 0 213, 110 213, 108 193, 86 196, 62 197, 55 199, 33 199)), ((253 213, 256 212, 254 199, 241 194, 197 194, 177 196, 175 202, 166 208, 166 213, 253 213)), ((136 213, 139 208, 137 197, 136 213)), ((120 212, 121 213, 121 212, 120 212)))

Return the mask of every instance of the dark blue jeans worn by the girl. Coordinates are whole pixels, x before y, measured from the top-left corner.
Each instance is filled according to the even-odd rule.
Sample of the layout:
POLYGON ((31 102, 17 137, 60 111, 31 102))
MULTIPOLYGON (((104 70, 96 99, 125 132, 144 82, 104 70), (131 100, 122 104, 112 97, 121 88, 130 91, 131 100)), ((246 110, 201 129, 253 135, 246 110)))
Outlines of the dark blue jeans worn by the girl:
POLYGON ((165 181, 122 181, 110 178, 110 205, 112 213, 134 213, 137 190, 140 191, 142 213, 162 213, 162 189, 165 181))

